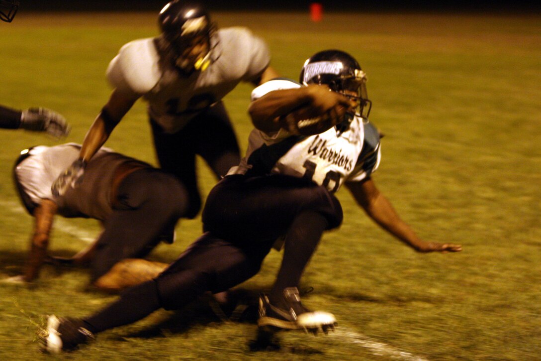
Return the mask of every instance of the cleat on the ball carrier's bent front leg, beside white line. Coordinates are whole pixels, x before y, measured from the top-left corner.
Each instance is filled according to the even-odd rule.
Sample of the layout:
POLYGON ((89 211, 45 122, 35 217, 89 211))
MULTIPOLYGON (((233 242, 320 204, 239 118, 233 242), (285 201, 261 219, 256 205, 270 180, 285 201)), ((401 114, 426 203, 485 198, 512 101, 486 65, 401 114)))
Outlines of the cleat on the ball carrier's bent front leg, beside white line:
POLYGON ((271 305, 266 295, 259 299, 258 327, 267 330, 273 328, 282 330, 305 330, 314 335, 318 331, 325 334, 328 330, 334 331, 337 321, 332 313, 324 311, 310 311, 301 304, 299 291, 296 287, 283 290, 284 299, 289 310, 271 305))

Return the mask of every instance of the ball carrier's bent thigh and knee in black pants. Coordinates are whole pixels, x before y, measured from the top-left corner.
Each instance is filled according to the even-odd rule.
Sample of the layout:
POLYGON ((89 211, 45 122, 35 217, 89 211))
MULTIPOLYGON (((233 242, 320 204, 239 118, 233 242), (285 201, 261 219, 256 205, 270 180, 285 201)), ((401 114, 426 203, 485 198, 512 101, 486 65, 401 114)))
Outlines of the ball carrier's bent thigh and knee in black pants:
POLYGON ((238 244, 252 244, 285 235, 305 210, 321 214, 327 229, 338 227, 342 220, 340 203, 322 186, 284 175, 234 175, 210 191, 202 221, 204 230, 238 244))

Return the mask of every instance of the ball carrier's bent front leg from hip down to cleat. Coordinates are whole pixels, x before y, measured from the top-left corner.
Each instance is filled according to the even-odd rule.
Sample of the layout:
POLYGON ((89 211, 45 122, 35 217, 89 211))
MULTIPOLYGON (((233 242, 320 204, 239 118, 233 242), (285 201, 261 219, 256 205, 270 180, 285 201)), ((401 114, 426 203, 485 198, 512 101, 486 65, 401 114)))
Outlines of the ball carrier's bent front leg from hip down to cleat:
POLYGON ((285 235, 282 265, 271 292, 260 300, 258 325, 287 329, 334 326, 332 314, 302 306, 297 287, 322 233, 341 220, 340 203, 325 188, 287 176, 226 177, 203 211, 207 229, 227 236, 236 233, 241 242, 285 235))

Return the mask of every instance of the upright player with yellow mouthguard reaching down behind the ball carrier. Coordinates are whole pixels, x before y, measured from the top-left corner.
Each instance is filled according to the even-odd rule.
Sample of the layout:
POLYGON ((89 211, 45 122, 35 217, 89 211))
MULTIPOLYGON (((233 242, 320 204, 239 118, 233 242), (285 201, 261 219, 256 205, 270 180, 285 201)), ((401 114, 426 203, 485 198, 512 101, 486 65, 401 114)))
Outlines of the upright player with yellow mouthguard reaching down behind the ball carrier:
POLYGON ((201 5, 173 0, 160 12, 161 34, 124 45, 110 62, 114 90, 84 139, 80 157, 53 186, 55 195, 75 185, 88 160, 105 143, 134 102, 148 102, 154 145, 162 169, 188 189, 187 217, 201 208, 195 156, 216 177, 240 160, 222 98, 241 82, 259 85, 277 76, 265 42, 241 27, 216 29, 201 5))

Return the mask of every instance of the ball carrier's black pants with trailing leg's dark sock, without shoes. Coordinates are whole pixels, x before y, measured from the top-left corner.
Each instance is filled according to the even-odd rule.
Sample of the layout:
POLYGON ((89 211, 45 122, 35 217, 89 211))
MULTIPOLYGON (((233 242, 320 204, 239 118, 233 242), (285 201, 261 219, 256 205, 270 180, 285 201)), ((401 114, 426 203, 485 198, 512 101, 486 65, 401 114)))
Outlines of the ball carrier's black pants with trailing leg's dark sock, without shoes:
POLYGON ((91 331, 101 332, 133 323, 160 307, 182 308, 204 292, 234 287, 258 273, 275 238, 286 234, 299 215, 311 212, 324 217, 327 229, 342 221, 338 199, 321 186, 281 175, 228 176, 207 198, 206 233, 156 279, 127 289, 85 321, 91 331))

